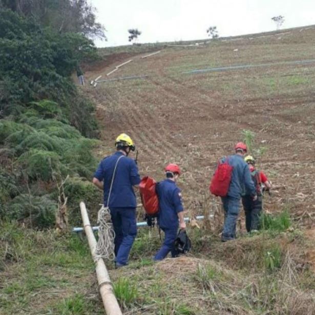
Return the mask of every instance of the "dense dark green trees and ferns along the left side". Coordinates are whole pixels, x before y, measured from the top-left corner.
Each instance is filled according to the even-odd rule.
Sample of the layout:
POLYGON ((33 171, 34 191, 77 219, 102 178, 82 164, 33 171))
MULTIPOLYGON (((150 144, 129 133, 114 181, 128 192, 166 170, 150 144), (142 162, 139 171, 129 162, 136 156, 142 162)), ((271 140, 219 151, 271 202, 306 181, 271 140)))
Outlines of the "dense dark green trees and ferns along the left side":
POLYGON ((52 227, 98 199, 94 105, 71 79, 97 58, 95 19, 86 0, 0 0, 0 221, 52 227))

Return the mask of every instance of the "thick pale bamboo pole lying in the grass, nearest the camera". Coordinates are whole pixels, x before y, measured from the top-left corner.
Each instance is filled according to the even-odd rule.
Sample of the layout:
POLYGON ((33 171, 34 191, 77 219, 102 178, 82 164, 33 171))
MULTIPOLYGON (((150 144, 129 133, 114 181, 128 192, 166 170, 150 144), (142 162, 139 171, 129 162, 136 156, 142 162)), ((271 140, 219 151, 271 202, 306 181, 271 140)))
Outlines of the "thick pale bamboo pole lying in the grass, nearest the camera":
POLYGON ((100 295, 102 297, 106 314, 107 315, 122 315, 118 302, 113 292, 112 282, 108 274, 106 265, 103 259, 95 257, 96 239, 91 228, 86 205, 82 201, 80 202, 80 210, 81 210, 81 216, 82 216, 82 221, 83 221, 83 228, 86 232, 91 254, 96 264, 95 269, 96 269, 96 276, 97 276, 97 281, 98 281, 98 288, 99 288, 100 295))

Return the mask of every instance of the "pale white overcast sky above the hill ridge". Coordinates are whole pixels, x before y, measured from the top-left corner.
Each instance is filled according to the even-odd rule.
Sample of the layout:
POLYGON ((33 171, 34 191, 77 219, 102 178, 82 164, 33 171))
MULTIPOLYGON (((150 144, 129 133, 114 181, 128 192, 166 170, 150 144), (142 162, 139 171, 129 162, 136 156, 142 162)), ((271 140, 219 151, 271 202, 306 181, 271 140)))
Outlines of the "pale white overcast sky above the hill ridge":
POLYGON ((90 0, 108 41, 96 46, 129 44, 128 29, 138 28, 139 42, 206 38, 217 26, 220 36, 276 29, 271 17, 283 15, 282 28, 315 24, 315 0, 90 0))

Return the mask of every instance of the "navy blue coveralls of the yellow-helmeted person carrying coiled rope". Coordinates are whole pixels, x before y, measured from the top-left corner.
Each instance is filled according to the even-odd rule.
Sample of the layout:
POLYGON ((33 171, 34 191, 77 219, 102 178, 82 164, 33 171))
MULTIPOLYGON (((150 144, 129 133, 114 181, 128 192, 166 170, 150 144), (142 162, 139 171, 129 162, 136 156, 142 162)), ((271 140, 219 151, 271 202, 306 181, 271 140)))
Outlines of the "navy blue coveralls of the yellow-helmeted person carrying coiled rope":
POLYGON ((116 265, 126 265, 132 244, 137 235, 136 207, 137 200, 133 190, 140 183, 138 167, 135 161, 123 156, 117 165, 113 188, 107 205, 115 164, 122 152, 104 158, 95 174, 104 184, 104 207, 109 207, 115 231, 116 265))

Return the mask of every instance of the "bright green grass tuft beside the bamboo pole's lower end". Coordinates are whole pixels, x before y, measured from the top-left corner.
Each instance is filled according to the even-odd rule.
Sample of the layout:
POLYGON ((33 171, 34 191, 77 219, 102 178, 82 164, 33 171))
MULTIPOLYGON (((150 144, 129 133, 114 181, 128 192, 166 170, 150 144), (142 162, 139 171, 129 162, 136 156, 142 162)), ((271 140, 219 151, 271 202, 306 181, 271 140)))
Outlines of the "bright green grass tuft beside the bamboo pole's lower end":
POLYGON ((114 293, 121 307, 127 309, 138 298, 138 290, 129 279, 119 278, 114 283, 114 293))

